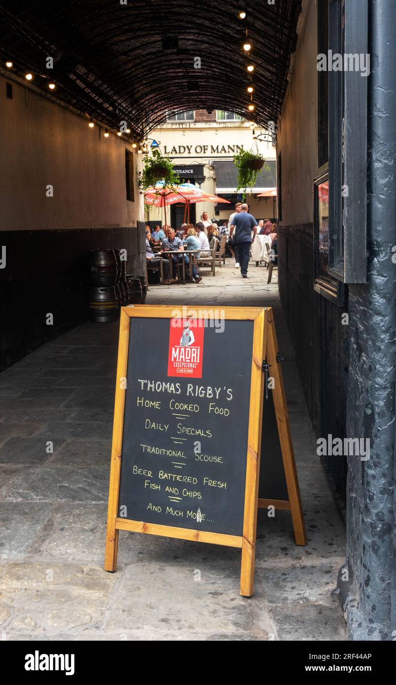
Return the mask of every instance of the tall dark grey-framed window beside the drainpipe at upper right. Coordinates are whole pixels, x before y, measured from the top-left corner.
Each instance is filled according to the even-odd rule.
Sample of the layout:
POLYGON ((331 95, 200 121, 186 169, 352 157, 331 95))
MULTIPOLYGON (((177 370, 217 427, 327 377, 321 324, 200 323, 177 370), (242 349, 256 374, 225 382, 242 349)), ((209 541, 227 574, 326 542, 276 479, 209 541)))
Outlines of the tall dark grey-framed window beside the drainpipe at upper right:
MULTIPOLYGON (((366 55, 368 0, 319 0, 319 40, 327 23, 327 47, 340 55, 343 69, 328 71, 329 251, 328 273, 338 282, 365 283, 367 208, 367 73, 345 62, 345 55, 366 55), (323 7, 321 7, 323 4, 323 7), (324 6, 327 4, 327 16, 324 6)), ((334 62, 332 63, 333 66, 334 62)), ((322 75, 324 72, 321 73, 322 75)), ((324 163, 325 95, 318 84, 319 166, 324 163)))

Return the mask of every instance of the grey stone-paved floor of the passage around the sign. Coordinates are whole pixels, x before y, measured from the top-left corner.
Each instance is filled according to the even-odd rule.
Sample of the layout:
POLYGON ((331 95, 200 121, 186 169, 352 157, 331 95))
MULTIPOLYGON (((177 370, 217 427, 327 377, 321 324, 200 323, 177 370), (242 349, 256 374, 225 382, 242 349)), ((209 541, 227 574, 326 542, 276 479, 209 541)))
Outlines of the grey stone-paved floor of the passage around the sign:
POLYGON ((151 287, 147 303, 274 308, 308 545, 295 546, 288 512, 260 511, 251 599, 238 595, 240 553, 227 547, 121 532, 118 571, 103 571, 118 323, 86 323, 0 375, 3 638, 345 639, 332 596, 345 531, 316 456, 276 271, 267 286, 262 266, 242 280, 227 264, 199 285, 151 287))

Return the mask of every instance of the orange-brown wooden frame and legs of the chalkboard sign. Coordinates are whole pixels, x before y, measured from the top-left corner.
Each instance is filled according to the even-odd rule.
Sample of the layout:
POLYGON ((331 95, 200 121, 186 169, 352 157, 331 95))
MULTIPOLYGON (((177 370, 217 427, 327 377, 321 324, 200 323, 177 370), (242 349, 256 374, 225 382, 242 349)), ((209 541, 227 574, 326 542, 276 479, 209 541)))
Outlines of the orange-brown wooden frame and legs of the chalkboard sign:
MULTIPOLYGON (((108 521, 106 534, 106 553, 104 568, 106 571, 116 570, 119 531, 160 535, 182 540, 195 540, 201 543, 236 547, 242 551, 240 569, 240 595, 253 595, 253 575, 256 553, 256 526, 258 506, 273 505, 275 508, 290 509, 297 545, 305 545, 304 519, 302 518, 301 499, 295 469, 293 445, 290 439, 286 401, 284 399, 283 380, 280 369, 275 375, 274 393, 277 426, 280 432, 280 443, 285 466, 286 482, 288 486, 288 501, 261 500, 258 501, 258 480, 260 474, 260 446, 262 426, 262 404, 264 392, 264 373, 262 363, 265 358, 273 366, 276 361, 276 336, 273 327, 271 308, 258 307, 224 307, 225 320, 253 321, 253 350, 251 362, 251 386, 249 402, 249 428, 247 439, 247 466, 245 480, 245 506, 243 514, 243 535, 226 535, 205 532, 188 528, 145 523, 119 518, 119 486, 121 476, 121 452, 123 444, 123 421, 125 408, 125 388, 120 379, 127 377, 127 358, 129 346, 129 319, 134 317, 151 319, 172 319, 175 306, 139 305, 121 308, 119 353, 116 372, 116 396, 114 403, 114 423, 112 438, 112 457, 110 468, 110 489, 108 498, 108 521), (275 399, 276 397, 276 399, 275 399)), ((208 310, 204 310, 204 313, 208 310)), ((203 317, 205 318, 205 316, 203 317)), ((279 366, 279 364, 277 364, 279 366)), ((275 369, 274 369, 275 371, 275 369)), ((271 374, 273 370, 271 369, 271 374)))

